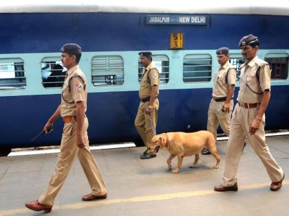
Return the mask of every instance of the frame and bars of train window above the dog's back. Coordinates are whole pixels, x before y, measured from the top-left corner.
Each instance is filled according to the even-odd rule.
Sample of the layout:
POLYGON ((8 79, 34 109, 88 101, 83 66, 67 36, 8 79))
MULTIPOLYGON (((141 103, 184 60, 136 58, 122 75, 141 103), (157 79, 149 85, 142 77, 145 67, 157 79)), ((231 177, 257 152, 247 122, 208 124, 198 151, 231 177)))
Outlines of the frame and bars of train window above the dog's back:
POLYGON ((209 83, 212 80, 212 76, 213 76, 213 58, 211 56, 211 54, 209 53, 187 53, 183 60, 182 60, 182 81, 186 84, 192 84, 192 83, 209 83), (189 58, 189 57, 193 57, 193 58, 189 58), (197 61, 199 60, 201 61, 209 61, 209 64, 197 64, 195 66, 191 66, 191 65, 186 65, 185 66, 185 61, 197 61), (204 70, 204 71, 200 71, 200 70, 195 70, 195 71, 185 71, 185 67, 209 67, 209 70, 204 70), (184 76, 185 73, 208 73, 208 76, 184 76), (191 81, 189 81, 189 79, 191 79, 191 81), (204 79, 204 80, 197 80, 194 81, 193 79, 204 79), (206 80, 208 79, 208 80, 206 80))

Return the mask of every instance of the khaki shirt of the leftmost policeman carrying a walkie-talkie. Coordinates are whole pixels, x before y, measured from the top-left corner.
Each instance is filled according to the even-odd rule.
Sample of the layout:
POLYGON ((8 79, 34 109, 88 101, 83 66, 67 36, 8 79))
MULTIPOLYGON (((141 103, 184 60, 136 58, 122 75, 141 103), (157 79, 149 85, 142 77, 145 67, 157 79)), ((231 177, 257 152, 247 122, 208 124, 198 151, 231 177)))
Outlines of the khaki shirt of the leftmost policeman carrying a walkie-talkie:
POLYGON ((87 82, 83 71, 78 65, 66 72, 65 81, 62 87, 61 117, 76 116, 76 102, 83 101, 85 111, 87 108, 87 82), (81 80, 81 78, 83 80, 81 80), (69 91, 69 80, 70 91, 69 91), (85 83, 83 83, 83 81, 85 83))

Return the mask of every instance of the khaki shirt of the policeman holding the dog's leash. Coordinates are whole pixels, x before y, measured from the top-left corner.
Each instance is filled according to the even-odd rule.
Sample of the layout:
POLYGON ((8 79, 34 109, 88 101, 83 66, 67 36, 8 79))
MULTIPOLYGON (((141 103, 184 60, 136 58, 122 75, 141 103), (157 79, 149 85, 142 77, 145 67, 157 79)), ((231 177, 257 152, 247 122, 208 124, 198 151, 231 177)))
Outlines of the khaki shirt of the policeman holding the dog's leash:
POLYGON ((160 84, 160 73, 156 68, 153 67, 153 65, 149 64, 148 67, 142 70, 142 79, 140 80, 140 92, 139 92, 140 99, 151 97, 152 86, 159 86, 159 84, 160 84))

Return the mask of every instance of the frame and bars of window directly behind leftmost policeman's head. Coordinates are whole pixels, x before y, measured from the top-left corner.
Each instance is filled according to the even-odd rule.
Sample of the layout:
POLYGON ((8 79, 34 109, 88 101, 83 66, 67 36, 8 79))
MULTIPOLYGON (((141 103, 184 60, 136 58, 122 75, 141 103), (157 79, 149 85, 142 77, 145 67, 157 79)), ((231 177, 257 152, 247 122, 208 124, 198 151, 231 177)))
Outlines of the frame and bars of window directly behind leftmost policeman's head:
POLYGON ((63 67, 61 58, 59 56, 46 56, 41 59, 41 84, 43 88, 47 88, 47 89, 62 88, 64 80, 65 80, 65 75, 66 75, 65 71, 67 71, 67 69, 63 67, 62 71, 60 71, 61 69, 54 69, 53 68, 54 66, 52 67, 52 64, 54 64, 54 66, 58 64, 58 65, 61 65, 61 67, 63 67), (43 67, 44 64, 47 64, 45 68, 43 67), (54 71, 55 72, 58 71, 58 73, 63 73, 63 74, 52 75, 54 71), (50 73, 50 75, 47 75, 47 72, 50 73), (51 79, 51 80, 49 80, 49 82, 45 82, 43 78, 45 78, 45 80, 47 79, 51 79), (54 81, 54 78, 56 81, 54 81))

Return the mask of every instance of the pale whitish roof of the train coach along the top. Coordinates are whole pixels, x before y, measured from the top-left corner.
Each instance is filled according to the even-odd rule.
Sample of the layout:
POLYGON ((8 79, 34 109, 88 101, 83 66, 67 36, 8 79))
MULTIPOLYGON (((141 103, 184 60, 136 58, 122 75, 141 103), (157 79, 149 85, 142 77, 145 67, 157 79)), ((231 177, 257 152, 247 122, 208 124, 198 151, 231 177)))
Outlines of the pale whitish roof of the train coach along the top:
POLYGON ((1 2, 0 13, 133 12, 173 14, 268 14, 289 16, 289 1, 19 0, 1 2))

